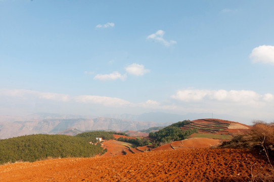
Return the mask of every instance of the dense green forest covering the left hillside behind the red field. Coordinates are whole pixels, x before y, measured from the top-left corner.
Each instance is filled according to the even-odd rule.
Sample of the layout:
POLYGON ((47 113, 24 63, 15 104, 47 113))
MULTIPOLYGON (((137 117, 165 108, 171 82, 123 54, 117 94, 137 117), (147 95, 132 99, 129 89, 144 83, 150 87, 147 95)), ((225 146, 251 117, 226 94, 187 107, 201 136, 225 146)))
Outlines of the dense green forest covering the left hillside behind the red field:
POLYGON ((112 133, 94 131, 76 136, 32 134, 0 140, 0 164, 16 161, 34 162, 59 157, 94 157, 106 150, 103 150, 101 145, 91 145, 88 142, 96 141, 96 137, 103 136, 106 140, 113 138, 112 133))

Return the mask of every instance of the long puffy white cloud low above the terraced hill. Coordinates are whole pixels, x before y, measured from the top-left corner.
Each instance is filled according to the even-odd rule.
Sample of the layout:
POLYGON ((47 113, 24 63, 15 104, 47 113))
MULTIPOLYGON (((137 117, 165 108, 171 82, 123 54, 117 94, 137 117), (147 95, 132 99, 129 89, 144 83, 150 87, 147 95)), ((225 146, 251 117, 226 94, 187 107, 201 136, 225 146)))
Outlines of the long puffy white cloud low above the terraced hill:
MULTIPOLYGON (((171 98, 191 102, 191 101, 225 101, 225 102, 241 102, 241 103, 254 103, 260 101, 263 96, 257 94, 252 90, 230 90, 226 91, 223 89, 220 90, 204 90, 204 89, 183 89, 178 90, 175 95, 172 95, 171 98)), ((270 96, 267 95, 269 99, 270 96)))

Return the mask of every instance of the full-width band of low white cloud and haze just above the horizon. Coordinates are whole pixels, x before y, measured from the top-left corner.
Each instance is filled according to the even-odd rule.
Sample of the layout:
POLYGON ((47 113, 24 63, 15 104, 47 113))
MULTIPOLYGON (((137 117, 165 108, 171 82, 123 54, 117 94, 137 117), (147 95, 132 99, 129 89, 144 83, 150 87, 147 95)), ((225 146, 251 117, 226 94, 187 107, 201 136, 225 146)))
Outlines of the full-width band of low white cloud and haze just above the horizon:
MULTIPOLYGON (((172 112, 227 114, 251 119, 272 119, 273 94, 258 94, 252 90, 178 90, 171 100, 129 102, 120 98, 94 95, 69 96, 26 89, 0 89, 0 113, 83 112, 172 112), (179 101, 176 101, 179 100, 179 101), (180 102, 184 101, 184 102, 180 102)), ((225 119, 225 118, 223 118, 225 119)), ((228 118, 226 118, 228 119, 228 118)), ((248 121, 248 120, 246 120, 248 121)), ((272 121, 272 120, 268 120, 272 121)))

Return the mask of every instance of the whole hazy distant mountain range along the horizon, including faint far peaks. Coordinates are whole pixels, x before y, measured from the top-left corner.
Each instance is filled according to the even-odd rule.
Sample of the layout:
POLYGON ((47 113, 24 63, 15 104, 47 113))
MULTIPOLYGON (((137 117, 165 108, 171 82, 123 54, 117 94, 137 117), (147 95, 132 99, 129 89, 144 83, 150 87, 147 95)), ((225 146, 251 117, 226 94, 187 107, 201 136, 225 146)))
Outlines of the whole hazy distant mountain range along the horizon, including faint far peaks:
MULTIPOLYGON (((151 112, 140 115, 108 114, 100 116, 68 115, 56 113, 35 113, 24 117, 0 116, 0 139, 20 135, 49 133, 56 134, 68 128, 86 130, 141 130, 154 126, 167 126, 182 120, 211 118, 211 113, 170 114, 151 112)), ((214 118, 222 118, 214 115, 214 118)), ((241 122, 241 121, 240 121, 241 122)))

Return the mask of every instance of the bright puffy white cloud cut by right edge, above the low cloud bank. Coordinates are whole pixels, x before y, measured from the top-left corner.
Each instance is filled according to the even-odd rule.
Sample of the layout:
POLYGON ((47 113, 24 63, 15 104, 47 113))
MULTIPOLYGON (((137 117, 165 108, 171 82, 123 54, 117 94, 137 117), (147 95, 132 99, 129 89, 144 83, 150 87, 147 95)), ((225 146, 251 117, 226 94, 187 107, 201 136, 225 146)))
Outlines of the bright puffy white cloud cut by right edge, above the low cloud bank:
POLYGON ((253 63, 261 62, 266 64, 274 64, 274 46, 260 45, 252 50, 250 59, 253 63))

